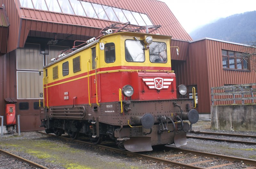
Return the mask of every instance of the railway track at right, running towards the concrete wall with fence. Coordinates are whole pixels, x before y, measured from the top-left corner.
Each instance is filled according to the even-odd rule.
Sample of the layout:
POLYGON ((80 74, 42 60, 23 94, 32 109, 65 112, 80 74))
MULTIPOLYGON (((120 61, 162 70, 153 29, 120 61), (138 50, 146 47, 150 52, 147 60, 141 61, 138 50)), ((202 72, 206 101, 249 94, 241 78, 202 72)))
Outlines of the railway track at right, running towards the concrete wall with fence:
POLYGON ((252 136, 252 135, 238 135, 238 134, 211 133, 211 132, 193 132, 193 135, 201 135, 201 136, 192 136, 190 134, 190 135, 187 135, 187 138, 256 145, 256 142, 253 142, 253 141, 230 140, 230 137, 232 137, 232 138, 243 137, 243 138, 256 139, 256 136, 252 136), (208 137, 208 136, 211 136, 211 137, 208 137), (216 137, 212 137, 212 136, 222 136, 222 137, 226 137, 226 138, 216 138, 216 137))

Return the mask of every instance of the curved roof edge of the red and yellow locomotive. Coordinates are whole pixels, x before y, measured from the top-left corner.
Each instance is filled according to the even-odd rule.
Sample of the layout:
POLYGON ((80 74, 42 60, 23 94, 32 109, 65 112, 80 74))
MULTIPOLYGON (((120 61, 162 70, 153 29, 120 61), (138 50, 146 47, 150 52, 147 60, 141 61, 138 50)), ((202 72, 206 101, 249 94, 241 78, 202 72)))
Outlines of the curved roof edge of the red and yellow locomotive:
MULTIPOLYGON (((64 57, 61 57, 60 59, 58 59, 58 60, 56 60, 56 61, 54 61, 54 62, 51 62, 51 63, 45 65, 45 66, 43 67, 43 69, 46 69, 46 68, 48 68, 49 66, 54 65, 55 63, 58 63, 58 62, 60 62, 60 61, 62 61, 62 60, 64 60, 64 59, 66 59, 66 58, 68 58, 68 57, 70 57, 70 56, 72 56, 72 55, 78 53, 78 52, 83 51, 84 49, 87 49, 87 48, 89 48, 89 47, 95 45, 96 43, 98 43, 98 42, 99 42, 101 39, 103 39, 103 38, 106 38, 106 37, 109 37, 109 36, 116 36, 116 35, 127 35, 127 36, 142 36, 142 35, 148 35, 148 36, 153 36, 154 38, 157 38, 157 39, 171 39, 171 38, 172 38, 172 36, 168 36, 168 35, 149 34, 149 33, 137 33, 137 32, 118 32, 118 33, 111 33, 111 34, 108 34, 108 35, 105 35, 105 36, 100 37, 100 39, 97 39, 97 40, 95 40, 94 42, 89 43, 89 44, 83 46, 82 48, 79 48, 79 49, 77 49, 77 50, 75 50, 75 51, 69 53, 68 55, 65 55, 64 57)), ((55 56, 55 57, 57 57, 57 56, 55 56)))

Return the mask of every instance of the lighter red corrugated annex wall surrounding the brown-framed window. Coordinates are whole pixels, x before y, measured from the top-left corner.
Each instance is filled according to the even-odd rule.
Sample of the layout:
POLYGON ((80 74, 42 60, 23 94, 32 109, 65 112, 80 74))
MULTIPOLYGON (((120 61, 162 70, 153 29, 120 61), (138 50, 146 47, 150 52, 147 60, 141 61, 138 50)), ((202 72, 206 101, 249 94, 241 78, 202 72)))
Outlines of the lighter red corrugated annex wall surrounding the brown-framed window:
MULTIPOLYGON (((204 41, 207 43, 207 49, 208 49, 210 87, 223 86, 224 84, 256 83, 255 71, 224 70, 222 67, 222 53, 221 53, 222 49, 237 51, 237 52, 246 52, 248 47, 239 45, 239 44, 226 43, 226 42, 211 40, 211 39, 207 39, 204 41)), ((252 53, 252 51, 249 53, 252 53)), ((252 66, 252 63, 250 64, 252 66)), ((221 97, 216 97, 216 99, 221 99, 221 97)), ((241 101, 238 101, 236 103, 241 104, 241 101)), ((247 101, 246 103, 250 103, 250 101, 247 101)), ((211 104, 211 102, 209 104, 211 104)), ((214 104, 215 105, 233 104, 233 102, 221 101, 221 102, 214 102, 214 104)))

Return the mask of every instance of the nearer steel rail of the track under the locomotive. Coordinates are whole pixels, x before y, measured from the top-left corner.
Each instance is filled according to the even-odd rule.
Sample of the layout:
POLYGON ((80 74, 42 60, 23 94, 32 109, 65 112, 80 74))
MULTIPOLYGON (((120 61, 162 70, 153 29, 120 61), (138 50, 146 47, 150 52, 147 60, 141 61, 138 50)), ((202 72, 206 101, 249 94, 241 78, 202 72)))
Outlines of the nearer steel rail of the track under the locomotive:
POLYGON ((123 153, 123 154, 129 155, 129 156, 135 156, 135 157, 139 156, 139 157, 144 158, 144 159, 153 160, 153 161, 156 161, 156 162, 159 162, 159 163, 164 163, 164 164, 167 164, 167 165, 185 167, 186 169, 195 169, 195 168, 196 169, 205 169, 204 167, 199 167, 199 166, 195 166, 195 165, 180 163, 180 162, 176 162, 176 161, 172 161, 172 160, 167 160, 167 159, 164 159, 164 158, 153 157, 153 156, 140 154, 140 153, 135 153, 135 152, 130 152, 130 151, 122 151, 120 149, 116 149, 116 148, 112 148, 112 147, 108 147, 108 146, 104 146, 104 145, 100 145, 100 144, 93 144, 93 143, 90 143, 90 142, 84 142, 84 141, 80 141, 80 140, 72 140, 72 139, 67 138, 67 137, 55 136, 53 134, 47 134, 47 133, 40 132, 40 131, 37 131, 37 132, 40 133, 40 134, 47 135, 47 136, 54 136, 54 137, 58 137, 58 138, 65 139, 65 140, 70 140, 70 141, 75 141, 75 142, 79 142, 79 143, 89 144, 89 145, 92 145, 92 146, 97 146, 97 147, 100 147, 102 149, 111 150, 111 151, 115 151, 115 152, 118 152, 118 153, 123 153))

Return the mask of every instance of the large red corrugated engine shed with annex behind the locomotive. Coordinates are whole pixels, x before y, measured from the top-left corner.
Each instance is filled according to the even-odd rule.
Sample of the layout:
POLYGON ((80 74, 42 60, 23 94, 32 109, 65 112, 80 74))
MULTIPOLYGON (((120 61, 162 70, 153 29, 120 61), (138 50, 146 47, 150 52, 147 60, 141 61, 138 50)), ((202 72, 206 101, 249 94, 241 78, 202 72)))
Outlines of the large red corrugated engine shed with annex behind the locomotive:
MULTIPOLYGON (((223 68, 222 58, 245 52, 243 44, 210 38, 193 41, 161 1, 0 0, 0 4, 0 115, 5 119, 7 104, 14 104, 21 131, 44 129, 39 127, 44 91, 38 71, 61 50, 99 36, 101 29, 111 24, 161 25, 152 33, 172 36, 170 47, 179 47, 179 55, 176 48, 168 47, 175 87, 187 85, 187 98, 195 87, 196 110, 202 118, 209 118, 210 87, 256 81, 250 65, 239 71, 234 71, 237 65, 235 69, 223 68)), ((4 125, 7 133, 6 122, 4 125)))

